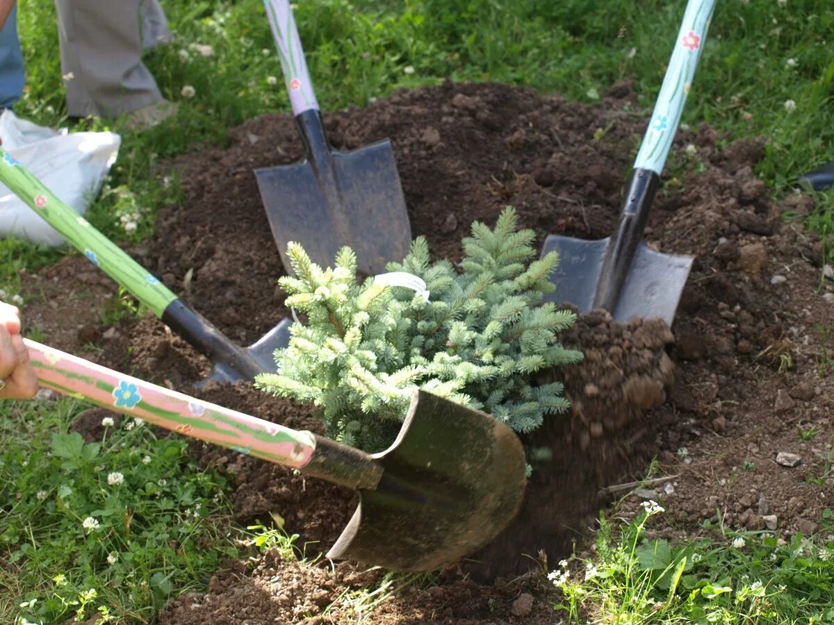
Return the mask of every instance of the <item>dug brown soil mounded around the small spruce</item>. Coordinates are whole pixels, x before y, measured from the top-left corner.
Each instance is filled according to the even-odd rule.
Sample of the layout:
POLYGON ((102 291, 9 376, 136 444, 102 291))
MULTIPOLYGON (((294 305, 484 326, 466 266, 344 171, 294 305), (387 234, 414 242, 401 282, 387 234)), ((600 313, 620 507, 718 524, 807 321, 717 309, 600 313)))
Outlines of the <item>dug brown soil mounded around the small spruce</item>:
MULTIPOLYGON (((494 223, 507 204, 540 241, 547 233, 605 237, 643 113, 627 85, 586 106, 529 89, 446 84, 327 114, 325 124, 339 148, 391 139, 414 234, 455 260, 469 223, 494 223)), ((286 115, 248 122, 232 139, 228 149, 200 148, 173 163, 186 199, 163 211, 153 240, 129 251, 231 338, 251 343, 288 314, 252 169, 292 163, 301 148, 286 115)), ((821 280, 821 244, 781 220, 813 203, 800 195, 772 201, 752 173, 761 151, 749 141, 723 148, 706 127, 678 134, 646 228, 653 247, 696 256, 676 343, 664 351, 671 336, 662 325, 622 327, 604 313, 567 333, 586 353, 585 363, 565 372, 573 412, 528 440, 550 460, 538 463, 524 511, 476 556, 480 562, 443 572, 430 587, 411 582, 369 616, 350 592, 382 583, 381 572, 267 555, 229 563, 207 593, 180 597, 160 622, 554 622, 554 589, 540 575, 473 580, 545 570, 571 549, 586 549, 595 513, 610 498, 600 491, 639 479, 653 456, 669 476, 652 495, 666 507, 666 535, 692 536, 716 514, 730 527, 761 528, 775 515, 777 532, 814 531, 834 497, 834 345, 825 333, 834 323, 834 285, 821 280), (695 153, 684 150, 688 144, 695 153), (816 434, 802 440, 800 430, 811 428, 816 434), (776 464, 780 451, 802 463, 776 464)), ((27 305, 27 322, 58 348, 83 354, 85 344, 97 344, 103 353, 89 358, 181 390, 208 371, 155 318, 104 327, 99 303, 115 288, 83 258, 67 258, 28 285, 47 298, 27 305)), ((318 427, 306 408, 244 385, 203 396, 294 428, 318 427)), ((310 557, 353 510, 354 496, 342 489, 219 448, 195 443, 194 450, 236 477, 239 521, 279 514, 311 542, 310 557)), ((627 498, 619 512, 638 501, 627 498)))

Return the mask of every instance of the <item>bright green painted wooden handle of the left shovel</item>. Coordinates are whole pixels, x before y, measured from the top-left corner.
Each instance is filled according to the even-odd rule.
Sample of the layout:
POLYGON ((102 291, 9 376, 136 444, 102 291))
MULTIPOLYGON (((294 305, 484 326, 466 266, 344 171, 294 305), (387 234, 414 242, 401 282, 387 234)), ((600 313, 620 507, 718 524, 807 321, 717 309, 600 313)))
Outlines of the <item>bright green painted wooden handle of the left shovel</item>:
POLYGON ((177 299, 153 274, 63 203, 3 148, 0 148, 0 181, 158 317, 177 299))

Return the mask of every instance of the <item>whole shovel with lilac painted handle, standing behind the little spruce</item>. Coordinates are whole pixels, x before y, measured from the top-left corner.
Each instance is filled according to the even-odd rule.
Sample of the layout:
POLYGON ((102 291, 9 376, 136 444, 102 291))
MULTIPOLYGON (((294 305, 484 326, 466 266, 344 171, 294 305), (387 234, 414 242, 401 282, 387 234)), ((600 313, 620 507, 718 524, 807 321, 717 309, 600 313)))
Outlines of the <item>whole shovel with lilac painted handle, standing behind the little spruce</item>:
POLYGON ((289 0, 265 0, 289 101, 304 143, 304 161, 256 169, 258 188, 281 261, 290 241, 327 267, 339 248, 353 248, 360 273, 382 273, 409 252, 411 228, 386 139, 352 152, 330 148, 289 0))

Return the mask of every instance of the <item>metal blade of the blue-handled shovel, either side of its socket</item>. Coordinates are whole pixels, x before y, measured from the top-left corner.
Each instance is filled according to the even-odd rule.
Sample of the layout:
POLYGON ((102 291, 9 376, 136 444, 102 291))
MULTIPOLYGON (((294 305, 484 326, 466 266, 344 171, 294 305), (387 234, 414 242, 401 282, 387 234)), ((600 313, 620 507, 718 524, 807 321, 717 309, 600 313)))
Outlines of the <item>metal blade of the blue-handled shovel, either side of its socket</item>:
MULTIPOLYGON (((545 300, 570 302, 579 308, 580 313, 594 308, 596 288, 609 244, 610 237, 584 241, 554 234, 548 236, 542 254, 559 253, 559 267, 551 277, 556 291, 548 294, 545 300)), ((641 241, 611 316, 620 323, 642 317, 661 318, 671 325, 691 267, 692 258, 656 252, 641 241)))

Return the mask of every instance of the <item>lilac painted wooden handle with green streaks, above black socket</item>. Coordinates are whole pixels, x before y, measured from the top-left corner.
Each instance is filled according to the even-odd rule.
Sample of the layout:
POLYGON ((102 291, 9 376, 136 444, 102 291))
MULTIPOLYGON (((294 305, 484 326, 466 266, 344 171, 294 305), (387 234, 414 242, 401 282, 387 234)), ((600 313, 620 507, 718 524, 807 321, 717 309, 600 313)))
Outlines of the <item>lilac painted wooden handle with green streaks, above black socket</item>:
POLYGON ((284 70, 284 83, 289 93, 289 103, 293 106, 294 115, 304 111, 319 110, 316 102, 313 82, 307 71, 307 61, 304 59, 304 49, 298 28, 295 28, 293 10, 289 7, 289 0, 264 0, 269 26, 278 47, 281 68, 284 70))

